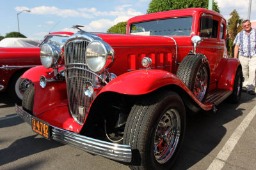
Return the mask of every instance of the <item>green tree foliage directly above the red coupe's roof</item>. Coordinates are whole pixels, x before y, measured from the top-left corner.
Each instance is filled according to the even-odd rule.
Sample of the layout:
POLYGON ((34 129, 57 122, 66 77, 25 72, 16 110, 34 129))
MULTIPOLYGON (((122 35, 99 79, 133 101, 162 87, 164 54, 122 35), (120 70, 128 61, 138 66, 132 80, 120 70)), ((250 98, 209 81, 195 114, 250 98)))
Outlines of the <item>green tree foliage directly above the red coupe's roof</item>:
MULTIPOLYGON (((208 0, 152 0, 148 5, 147 13, 185 8, 208 8, 208 0)), ((213 10, 220 12, 216 2, 213 2, 213 10)))

